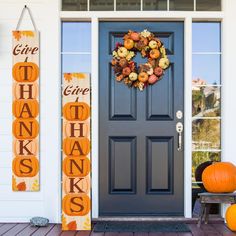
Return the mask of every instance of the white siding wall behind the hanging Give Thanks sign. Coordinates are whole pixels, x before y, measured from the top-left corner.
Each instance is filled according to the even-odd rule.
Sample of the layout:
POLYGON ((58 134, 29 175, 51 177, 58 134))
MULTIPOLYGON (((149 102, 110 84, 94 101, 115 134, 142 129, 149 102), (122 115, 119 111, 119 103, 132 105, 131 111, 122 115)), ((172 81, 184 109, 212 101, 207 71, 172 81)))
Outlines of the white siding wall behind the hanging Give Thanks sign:
MULTIPOLYGON (((0 0, 0 222, 44 216, 60 221, 60 18, 58 0, 0 0), (12 192, 11 31, 24 5, 40 31, 40 181, 39 192, 12 192)), ((20 29, 33 29, 25 14, 20 29)))

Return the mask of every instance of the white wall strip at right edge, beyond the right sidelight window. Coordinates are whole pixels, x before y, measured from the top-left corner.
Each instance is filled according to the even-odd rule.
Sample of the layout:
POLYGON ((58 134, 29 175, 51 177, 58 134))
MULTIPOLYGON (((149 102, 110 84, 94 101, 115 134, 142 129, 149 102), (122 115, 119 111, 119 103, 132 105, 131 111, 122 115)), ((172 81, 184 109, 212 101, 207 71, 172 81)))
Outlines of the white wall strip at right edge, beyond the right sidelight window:
MULTIPOLYGON (((222 161, 236 164, 236 1, 223 1, 224 20, 222 22, 222 123, 221 145, 222 161)), ((225 216, 227 205, 223 206, 222 216, 225 216)))

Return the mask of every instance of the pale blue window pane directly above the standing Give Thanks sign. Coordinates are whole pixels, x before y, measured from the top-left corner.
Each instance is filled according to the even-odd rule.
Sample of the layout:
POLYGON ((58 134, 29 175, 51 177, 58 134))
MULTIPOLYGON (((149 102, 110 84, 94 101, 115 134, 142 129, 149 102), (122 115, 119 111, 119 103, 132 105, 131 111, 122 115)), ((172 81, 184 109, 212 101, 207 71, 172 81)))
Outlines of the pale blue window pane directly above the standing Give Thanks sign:
POLYGON ((63 55, 62 72, 91 72, 91 55, 63 55))

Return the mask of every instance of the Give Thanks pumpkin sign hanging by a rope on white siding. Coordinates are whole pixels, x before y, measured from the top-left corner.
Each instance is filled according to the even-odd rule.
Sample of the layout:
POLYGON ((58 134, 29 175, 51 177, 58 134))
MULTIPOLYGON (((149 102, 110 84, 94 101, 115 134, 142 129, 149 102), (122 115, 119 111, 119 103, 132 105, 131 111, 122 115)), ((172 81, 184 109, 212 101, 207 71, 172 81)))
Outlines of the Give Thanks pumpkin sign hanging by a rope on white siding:
POLYGON ((38 31, 19 31, 19 23, 17 30, 12 32, 12 190, 38 191, 39 33, 38 31))

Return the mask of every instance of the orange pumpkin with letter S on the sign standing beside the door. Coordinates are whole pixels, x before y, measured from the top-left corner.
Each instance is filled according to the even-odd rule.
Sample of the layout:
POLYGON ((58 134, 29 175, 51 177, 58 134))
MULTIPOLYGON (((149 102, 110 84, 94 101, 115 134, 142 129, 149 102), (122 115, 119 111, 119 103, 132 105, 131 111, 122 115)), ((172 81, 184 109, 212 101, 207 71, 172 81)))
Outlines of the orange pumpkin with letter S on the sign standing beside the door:
POLYGON ((68 194, 62 200, 62 209, 68 216, 84 216, 90 211, 90 198, 86 194, 68 194))

